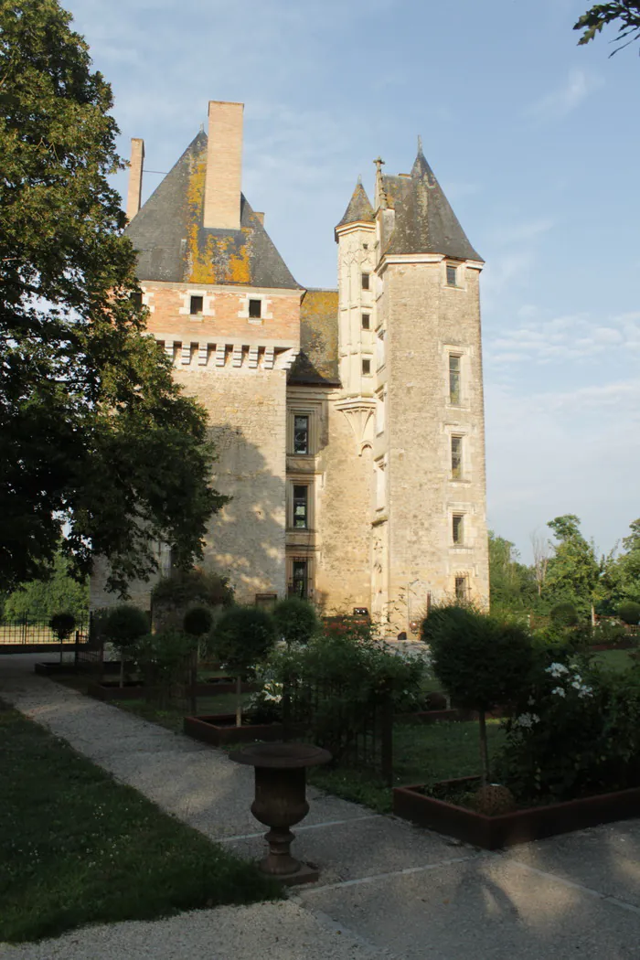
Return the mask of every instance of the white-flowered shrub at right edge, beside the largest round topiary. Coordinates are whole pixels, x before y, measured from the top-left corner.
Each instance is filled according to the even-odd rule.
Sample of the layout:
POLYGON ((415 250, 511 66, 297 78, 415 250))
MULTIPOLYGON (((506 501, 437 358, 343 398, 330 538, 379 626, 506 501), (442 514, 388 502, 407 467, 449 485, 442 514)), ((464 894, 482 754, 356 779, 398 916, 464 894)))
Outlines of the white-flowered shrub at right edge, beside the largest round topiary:
POLYGON ((640 784, 639 754, 640 669, 543 660, 497 768, 522 801, 570 800, 640 784))

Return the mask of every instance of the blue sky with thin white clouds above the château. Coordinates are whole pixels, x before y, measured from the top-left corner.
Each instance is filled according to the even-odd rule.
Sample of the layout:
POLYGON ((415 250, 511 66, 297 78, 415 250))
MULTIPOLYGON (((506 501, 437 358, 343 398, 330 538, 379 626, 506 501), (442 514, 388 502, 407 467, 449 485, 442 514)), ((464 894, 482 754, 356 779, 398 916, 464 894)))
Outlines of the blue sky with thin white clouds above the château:
MULTIPOLYGON (((209 99, 243 101, 244 191, 296 279, 416 134, 486 260, 488 522, 531 556, 564 513, 601 550, 640 516, 640 59, 572 26, 590 0, 67 0, 121 153, 168 171, 209 99)), ((160 178, 148 174, 148 195, 160 178)), ((124 190, 125 175, 116 179, 124 190)))

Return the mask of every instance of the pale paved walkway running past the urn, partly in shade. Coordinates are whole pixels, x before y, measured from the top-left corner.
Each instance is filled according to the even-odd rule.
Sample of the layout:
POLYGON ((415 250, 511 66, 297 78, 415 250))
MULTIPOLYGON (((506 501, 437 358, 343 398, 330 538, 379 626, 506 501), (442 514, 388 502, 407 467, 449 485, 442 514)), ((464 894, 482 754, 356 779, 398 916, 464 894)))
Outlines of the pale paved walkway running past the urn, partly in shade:
MULTIPOLYGON (((0 657, 4 700, 212 840, 263 855, 251 769, 36 677, 37 659, 0 657)), ((488 853, 314 788, 309 801, 295 850, 320 881, 290 900, 89 927, 0 946, 1 960, 640 958, 640 820, 488 853)))

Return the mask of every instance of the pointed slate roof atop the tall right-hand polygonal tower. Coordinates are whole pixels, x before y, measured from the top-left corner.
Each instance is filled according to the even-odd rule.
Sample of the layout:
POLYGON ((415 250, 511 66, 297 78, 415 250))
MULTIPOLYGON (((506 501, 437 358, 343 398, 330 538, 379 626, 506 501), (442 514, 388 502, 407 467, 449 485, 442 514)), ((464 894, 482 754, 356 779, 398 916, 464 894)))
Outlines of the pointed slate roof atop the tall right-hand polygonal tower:
POLYGON ((411 178, 399 180, 402 183, 397 184, 394 199, 395 224, 385 253, 442 253, 460 260, 483 262, 469 243, 421 150, 415 157, 411 178))

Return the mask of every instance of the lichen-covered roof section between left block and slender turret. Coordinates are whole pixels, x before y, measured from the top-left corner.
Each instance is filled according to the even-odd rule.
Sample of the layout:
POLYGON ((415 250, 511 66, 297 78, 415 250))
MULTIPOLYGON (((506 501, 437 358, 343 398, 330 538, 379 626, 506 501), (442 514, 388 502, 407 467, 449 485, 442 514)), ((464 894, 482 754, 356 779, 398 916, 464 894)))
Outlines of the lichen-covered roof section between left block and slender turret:
POLYGON ((288 382, 339 387, 338 291, 307 290, 300 305, 300 352, 288 382))

